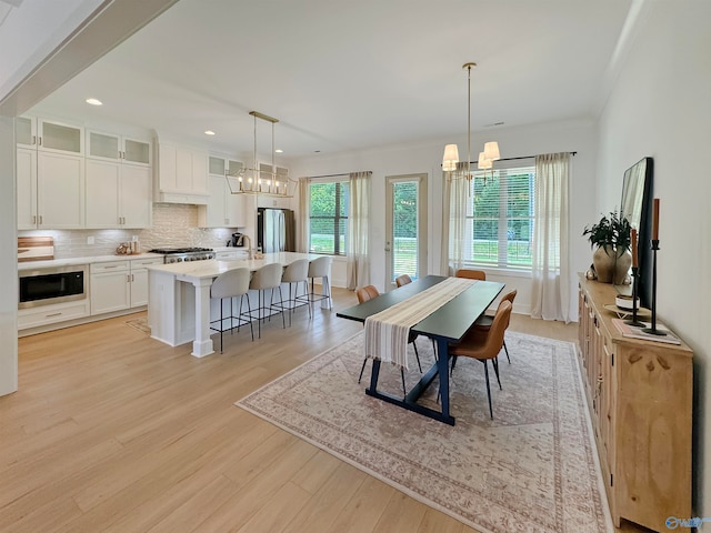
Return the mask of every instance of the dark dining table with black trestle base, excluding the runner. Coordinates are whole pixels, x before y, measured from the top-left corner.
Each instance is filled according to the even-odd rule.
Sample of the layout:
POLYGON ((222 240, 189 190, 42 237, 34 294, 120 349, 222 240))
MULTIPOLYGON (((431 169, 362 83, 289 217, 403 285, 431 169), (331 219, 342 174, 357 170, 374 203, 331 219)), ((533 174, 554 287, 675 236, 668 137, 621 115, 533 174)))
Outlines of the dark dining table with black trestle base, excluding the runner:
MULTIPOLYGON (((381 313, 400 302, 417 298, 419 293, 435 288, 447 279, 448 276, 443 275, 425 275, 372 300, 338 311, 336 315, 365 323, 369 316, 381 313)), ((370 384, 365 389, 365 394, 454 425, 455 419, 450 413, 449 344, 462 340, 474 322, 501 293, 503 286, 504 284, 499 282, 477 281, 443 305, 433 309, 423 320, 410 328, 412 333, 434 340, 437 356, 432 366, 423 372, 420 381, 403 398, 378 390, 382 362, 379 359, 373 359, 370 384), (441 411, 418 403, 418 400, 438 375, 440 376, 441 411)))

